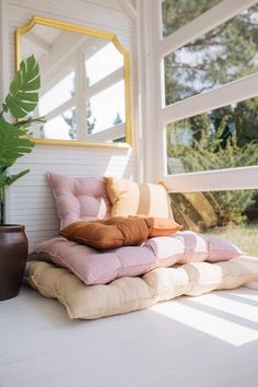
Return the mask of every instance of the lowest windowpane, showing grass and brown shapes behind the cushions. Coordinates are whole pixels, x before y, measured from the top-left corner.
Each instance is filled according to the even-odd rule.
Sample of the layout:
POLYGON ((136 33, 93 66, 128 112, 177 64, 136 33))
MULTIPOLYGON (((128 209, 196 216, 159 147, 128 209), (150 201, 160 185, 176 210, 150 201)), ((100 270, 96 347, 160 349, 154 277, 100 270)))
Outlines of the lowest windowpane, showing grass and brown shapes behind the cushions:
POLYGON ((225 237, 258 256, 258 191, 171 194, 173 213, 184 230, 225 237))

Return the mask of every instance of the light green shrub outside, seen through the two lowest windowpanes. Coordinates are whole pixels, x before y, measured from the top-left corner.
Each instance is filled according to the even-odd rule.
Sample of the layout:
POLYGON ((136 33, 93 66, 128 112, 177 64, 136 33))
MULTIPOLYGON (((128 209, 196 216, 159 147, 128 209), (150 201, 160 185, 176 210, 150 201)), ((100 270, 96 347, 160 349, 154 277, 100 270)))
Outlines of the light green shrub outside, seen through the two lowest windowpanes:
MULTIPOLYGON (((167 155, 179 159, 185 172, 198 172, 200 171, 200 166, 201 171, 210 171, 243 165, 257 165, 257 141, 241 146, 237 144, 236 134, 230 136, 227 139, 223 138, 223 133, 227 127, 227 120, 231 118, 231 116, 225 116, 213 133, 209 132, 211 117, 209 117, 208 114, 202 114, 195 118, 181 120, 167 126, 167 155), (179 144, 181 138, 177 138, 177 133, 180 133, 184 125, 186 128, 189 128, 192 119, 198 121, 196 125, 202 128, 202 130, 196 132, 198 139, 194 139, 191 146, 179 144), (171 144, 169 141, 172 131, 174 133, 174 140, 177 143, 176 146, 171 144)), ((210 202, 216 213, 216 222, 214 222, 213 225, 218 226, 224 226, 228 223, 241 224, 245 222, 245 210, 255 202, 255 191, 253 190, 213 191, 203 192, 202 195, 210 202)), ((173 200, 175 200, 174 204, 180 208, 183 202, 188 199, 181 195, 173 200)), ((188 207, 189 206, 185 203, 184 208, 189 213, 188 207)), ((201 218, 203 218, 202 212, 206 211, 204 207, 206 204, 203 201, 200 201, 200 208, 196 209, 201 218)), ((194 214, 192 219, 195 219, 194 214)), ((206 222, 197 222, 196 219, 195 223, 198 223, 199 227, 202 230, 206 228, 206 226, 210 226, 210 224, 206 224, 206 222)), ((189 224, 186 225, 189 227, 189 224)))

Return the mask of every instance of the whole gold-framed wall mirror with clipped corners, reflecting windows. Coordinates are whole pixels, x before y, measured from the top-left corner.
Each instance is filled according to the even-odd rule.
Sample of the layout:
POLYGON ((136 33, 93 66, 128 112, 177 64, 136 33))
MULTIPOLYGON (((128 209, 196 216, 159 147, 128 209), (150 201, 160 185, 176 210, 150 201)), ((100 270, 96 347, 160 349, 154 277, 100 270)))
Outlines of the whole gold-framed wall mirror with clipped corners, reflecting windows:
POLYGON ((42 87, 33 126, 36 143, 131 145, 129 52, 117 36, 34 16, 15 32, 16 68, 34 54, 42 87))

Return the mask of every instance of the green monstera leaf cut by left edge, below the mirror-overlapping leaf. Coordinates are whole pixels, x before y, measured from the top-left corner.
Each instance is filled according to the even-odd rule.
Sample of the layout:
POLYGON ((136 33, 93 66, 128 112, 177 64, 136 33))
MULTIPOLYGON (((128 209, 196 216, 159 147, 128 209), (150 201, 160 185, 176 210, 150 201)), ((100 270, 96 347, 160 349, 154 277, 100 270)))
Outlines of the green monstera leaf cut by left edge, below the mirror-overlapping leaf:
POLYGON ((0 120, 0 166, 12 166, 16 159, 32 152, 34 142, 24 138, 25 132, 3 119, 0 120))

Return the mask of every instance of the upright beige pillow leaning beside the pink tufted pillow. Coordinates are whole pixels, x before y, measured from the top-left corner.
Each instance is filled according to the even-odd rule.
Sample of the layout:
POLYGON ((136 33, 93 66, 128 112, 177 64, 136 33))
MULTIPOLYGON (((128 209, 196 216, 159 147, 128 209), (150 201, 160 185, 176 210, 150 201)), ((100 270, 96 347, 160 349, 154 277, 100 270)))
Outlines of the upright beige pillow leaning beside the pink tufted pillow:
POLYGON ((138 184, 128 179, 104 177, 113 204, 112 216, 143 214, 173 219, 168 195, 162 184, 138 184))

